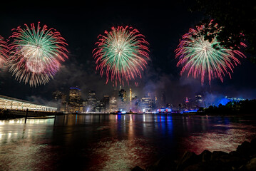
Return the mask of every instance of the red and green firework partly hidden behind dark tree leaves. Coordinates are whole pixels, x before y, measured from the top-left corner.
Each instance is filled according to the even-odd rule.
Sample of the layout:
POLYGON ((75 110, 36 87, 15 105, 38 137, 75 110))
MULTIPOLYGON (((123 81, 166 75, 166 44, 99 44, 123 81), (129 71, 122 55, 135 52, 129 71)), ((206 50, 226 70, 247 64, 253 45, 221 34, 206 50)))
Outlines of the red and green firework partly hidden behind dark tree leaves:
MULTIPOLYGON (((212 24, 209 24, 210 27, 212 24)), ((205 40, 203 29, 205 26, 198 26, 196 29, 190 28, 188 33, 183 35, 178 48, 175 50, 178 58, 177 66, 183 66, 180 71, 182 75, 188 71, 188 77, 193 78, 200 76, 201 83, 204 83, 205 77, 208 77, 209 84, 213 78, 220 78, 223 82, 225 75, 230 75, 233 68, 240 64, 235 56, 245 57, 243 53, 232 48, 224 48, 220 46, 220 42, 213 36, 212 41, 205 40)), ((244 43, 241 43, 245 47, 244 43)))

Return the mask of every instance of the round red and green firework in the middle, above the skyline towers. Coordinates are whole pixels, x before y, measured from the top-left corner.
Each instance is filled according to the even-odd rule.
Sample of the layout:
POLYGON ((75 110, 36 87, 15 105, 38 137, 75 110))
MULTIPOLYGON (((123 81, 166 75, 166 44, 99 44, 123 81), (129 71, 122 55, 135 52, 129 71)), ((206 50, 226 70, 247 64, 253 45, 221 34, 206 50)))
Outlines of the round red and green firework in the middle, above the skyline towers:
POLYGON ((111 79, 117 86, 118 82, 129 84, 130 80, 141 78, 141 71, 146 68, 149 59, 148 42, 144 36, 128 26, 112 27, 110 32, 105 33, 106 36, 98 36, 98 47, 93 50, 93 58, 100 75, 106 74, 106 83, 111 79))

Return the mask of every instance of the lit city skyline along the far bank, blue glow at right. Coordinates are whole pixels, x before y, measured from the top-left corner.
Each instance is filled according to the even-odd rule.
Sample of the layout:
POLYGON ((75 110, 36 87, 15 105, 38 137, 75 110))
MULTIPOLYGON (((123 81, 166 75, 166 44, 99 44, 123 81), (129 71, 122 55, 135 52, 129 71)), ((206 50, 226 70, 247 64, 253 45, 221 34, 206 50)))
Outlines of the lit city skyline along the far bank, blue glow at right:
POLYGON ((77 86, 69 88, 66 92, 55 91, 52 93, 51 105, 63 113, 115 113, 123 110, 132 113, 155 113, 160 108, 168 108, 173 111, 198 110, 208 108, 210 105, 226 105, 230 101, 246 100, 244 98, 220 96, 215 100, 205 99, 205 94, 197 93, 193 96, 186 96, 177 104, 170 103, 165 98, 165 93, 147 92, 142 96, 115 88, 110 94, 98 96, 94 90, 88 90, 87 96, 81 97, 81 89, 77 86))

